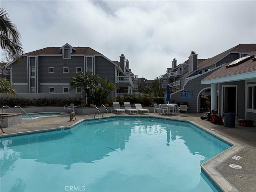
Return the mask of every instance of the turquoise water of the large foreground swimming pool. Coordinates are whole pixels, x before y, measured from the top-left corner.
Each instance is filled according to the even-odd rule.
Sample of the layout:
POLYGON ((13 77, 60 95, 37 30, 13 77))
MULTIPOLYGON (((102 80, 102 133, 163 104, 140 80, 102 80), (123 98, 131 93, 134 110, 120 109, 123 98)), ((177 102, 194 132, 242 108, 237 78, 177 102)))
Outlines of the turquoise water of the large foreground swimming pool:
POLYGON ((200 164, 229 144, 187 122, 102 118, 1 139, 1 191, 217 191, 200 164))

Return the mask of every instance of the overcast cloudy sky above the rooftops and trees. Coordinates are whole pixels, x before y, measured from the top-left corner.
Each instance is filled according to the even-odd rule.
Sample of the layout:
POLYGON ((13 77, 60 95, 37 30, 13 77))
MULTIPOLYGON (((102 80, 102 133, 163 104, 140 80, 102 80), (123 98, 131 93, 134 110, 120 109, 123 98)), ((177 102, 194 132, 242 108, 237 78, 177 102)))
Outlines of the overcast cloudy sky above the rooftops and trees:
POLYGON ((124 54, 138 77, 154 79, 188 60, 256 43, 256 1, 1 0, 24 52, 90 47, 110 60, 124 54))

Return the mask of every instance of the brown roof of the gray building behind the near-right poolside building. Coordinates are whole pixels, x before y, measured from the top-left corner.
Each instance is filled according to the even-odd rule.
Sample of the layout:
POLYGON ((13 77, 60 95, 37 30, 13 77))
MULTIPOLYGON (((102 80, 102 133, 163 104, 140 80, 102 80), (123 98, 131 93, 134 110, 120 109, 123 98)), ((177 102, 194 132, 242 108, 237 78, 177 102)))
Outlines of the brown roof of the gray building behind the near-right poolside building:
POLYGON ((215 64, 216 62, 218 62, 219 60, 221 60, 222 58, 224 58, 225 56, 227 56, 228 54, 234 52, 241 52, 241 53, 251 53, 256 51, 256 44, 239 44, 237 46, 234 46, 212 58, 209 58, 207 60, 205 60, 204 62, 201 62, 200 64, 198 64, 198 69, 200 70, 202 68, 206 68, 208 66, 211 66, 212 64, 215 64))

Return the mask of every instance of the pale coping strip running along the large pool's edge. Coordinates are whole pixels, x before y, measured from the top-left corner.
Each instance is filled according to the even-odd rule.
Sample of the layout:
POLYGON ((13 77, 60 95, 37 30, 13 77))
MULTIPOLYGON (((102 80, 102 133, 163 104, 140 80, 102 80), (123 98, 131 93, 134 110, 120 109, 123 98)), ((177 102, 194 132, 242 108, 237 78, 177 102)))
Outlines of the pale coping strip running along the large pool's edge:
MULTIPOLYGON (((58 130, 68 130, 84 121, 92 121, 92 120, 97 120, 97 119, 116 118, 116 117, 118 117, 118 118, 119 117, 127 117, 127 115, 114 115, 114 116, 96 117, 93 119, 91 119, 91 118, 90 119, 81 119, 81 120, 74 122, 74 124, 69 125, 69 126, 58 126, 56 128, 48 128, 48 129, 42 129, 42 130, 4 134, 4 135, 0 135, 0 138, 2 139, 2 138, 8 138, 8 137, 22 136, 22 135, 27 135, 27 134, 52 132, 52 131, 58 131, 58 130)), ((181 121, 181 122, 189 122, 189 123, 193 124, 194 126, 200 128, 201 130, 204 130, 208 134, 218 138, 219 140, 222 140, 224 142, 227 142, 230 145, 233 145, 230 148, 228 148, 227 150, 221 152, 220 154, 218 154, 218 155, 212 157, 211 159, 207 160, 206 162, 200 164, 200 166, 201 166, 202 172, 206 175, 206 177, 208 177, 208 179, 210 179, 209 181, 212 182, 212 184, 214 184, 214 186, 218 190, 220 190, 222 192, 240 192, 235 186, 233 186, 228 180, 226 180, 226 178, 224 178, 224 176, 222 176, 222 174, 220 174, 220 172, 218 172, 216 167, 219 166, 220 164, 222 164, 227 159, 234 156, 234 154, 236 154, 238 151, 242 150, 244 148, 244 146, 238 144, 234 140, 230 140, 229 138, 227 138, 221 134, 218 134, 217 132, 209 130, 206 127, 204 127, 200 124, 197 124, 196 122, 191 121, 191 120, 181 120, 181 119, 176 119, 174 117, 172 117, 172 118, 156 117, 156 116, 150 116, 150 115, 147 115, 147 116, 136 115, 136 116, 132 116, 132 117, 158 118, 158 119, 164 119, 164 120, 175 120, 175 121, 181 121)))

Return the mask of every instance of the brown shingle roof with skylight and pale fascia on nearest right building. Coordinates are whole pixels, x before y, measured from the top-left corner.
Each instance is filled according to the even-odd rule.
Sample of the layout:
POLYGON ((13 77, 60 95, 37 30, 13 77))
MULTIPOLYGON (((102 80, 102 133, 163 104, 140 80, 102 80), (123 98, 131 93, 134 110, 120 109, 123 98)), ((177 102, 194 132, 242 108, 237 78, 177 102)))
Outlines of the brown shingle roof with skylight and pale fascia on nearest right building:
POLYGON ((238 65, 226 67, 230 63, 220 67, 212 74, 202 80, 202 84, 231 82, 239 80, 256 79, 256 52, 248 54, 247 56, 253 56, 249 60, 245 60, 238 65))

